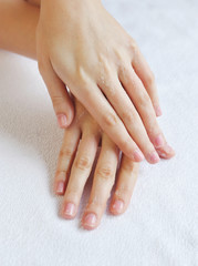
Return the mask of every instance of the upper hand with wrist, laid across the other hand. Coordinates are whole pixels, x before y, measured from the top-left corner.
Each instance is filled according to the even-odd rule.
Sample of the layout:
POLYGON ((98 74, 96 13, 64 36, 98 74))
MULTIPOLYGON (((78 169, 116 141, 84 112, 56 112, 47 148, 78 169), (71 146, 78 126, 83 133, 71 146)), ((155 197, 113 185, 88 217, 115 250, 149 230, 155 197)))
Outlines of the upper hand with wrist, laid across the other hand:
POLYGON ((39 69, 56 114, 69 110, 66 84, 125 155, 157 163, 155 149, 166 140, 156 120, 154 75, 101 1, 42 0, 37 37, 39 69))

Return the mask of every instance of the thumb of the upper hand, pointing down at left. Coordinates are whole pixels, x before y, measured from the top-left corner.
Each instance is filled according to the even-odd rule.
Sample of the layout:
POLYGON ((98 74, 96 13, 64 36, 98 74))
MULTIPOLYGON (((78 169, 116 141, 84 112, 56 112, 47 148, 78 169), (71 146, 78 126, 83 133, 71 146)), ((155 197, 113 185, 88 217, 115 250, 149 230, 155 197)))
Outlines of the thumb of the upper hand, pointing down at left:
POLYGON ((39 61, 39 71, 51 96, 59 126, 66 129, 73 121, 74 108, 65 84, 54 72, 50 61, 39 61))

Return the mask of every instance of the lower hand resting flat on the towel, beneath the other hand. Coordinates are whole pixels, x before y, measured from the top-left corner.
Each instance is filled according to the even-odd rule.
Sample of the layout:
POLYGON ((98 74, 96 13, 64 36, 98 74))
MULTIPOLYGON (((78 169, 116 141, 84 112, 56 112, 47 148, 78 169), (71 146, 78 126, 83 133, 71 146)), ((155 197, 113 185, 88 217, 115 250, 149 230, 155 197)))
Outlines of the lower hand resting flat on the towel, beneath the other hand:
MULTIPOLYGON (((96 160, 91 196, 82 218, 83 227, 92 229, 101 222, 115 182, 110 211, 115 215, 126 211, 137 180, 138 163, 122 155, 118 166, 119 151, 117 146, 101 131, 76 100, 75 110, 75 119, 65 131, 60 151, 54 192, 58 195, 64 195, 61 216, 66 219, 74 218, 85 183, 93 172, 94 160, 101 142, 102 147, 96 160), (115 181, 116 170, 118 174, 115 181)), ((161 153, 168 158, 170 154, 166 150, 165 145, 161 153)))

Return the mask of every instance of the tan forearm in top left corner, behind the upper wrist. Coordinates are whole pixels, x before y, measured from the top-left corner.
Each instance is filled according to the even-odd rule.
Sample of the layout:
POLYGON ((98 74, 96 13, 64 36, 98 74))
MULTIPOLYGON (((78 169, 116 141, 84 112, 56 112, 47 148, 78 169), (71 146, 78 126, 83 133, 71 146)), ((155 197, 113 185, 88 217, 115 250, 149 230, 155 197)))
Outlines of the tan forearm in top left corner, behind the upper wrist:
POLYGON ((37 58, 39 9, 21 0, 0 0, 0 49, 37 58))

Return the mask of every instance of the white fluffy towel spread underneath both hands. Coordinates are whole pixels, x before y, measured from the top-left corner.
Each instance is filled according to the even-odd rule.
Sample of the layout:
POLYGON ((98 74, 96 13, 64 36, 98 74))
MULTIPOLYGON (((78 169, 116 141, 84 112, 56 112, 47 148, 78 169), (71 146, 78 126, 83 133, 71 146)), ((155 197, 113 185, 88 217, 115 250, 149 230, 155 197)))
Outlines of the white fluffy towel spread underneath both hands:
POLYGON ((52 182, 63 132, 29 59, 0 51, 0 265, 198 266, 198 1, 108 0, 156 75, 159 124, 176 150, 142 163, 127 212, 97 229, 58 215, 52 182))

